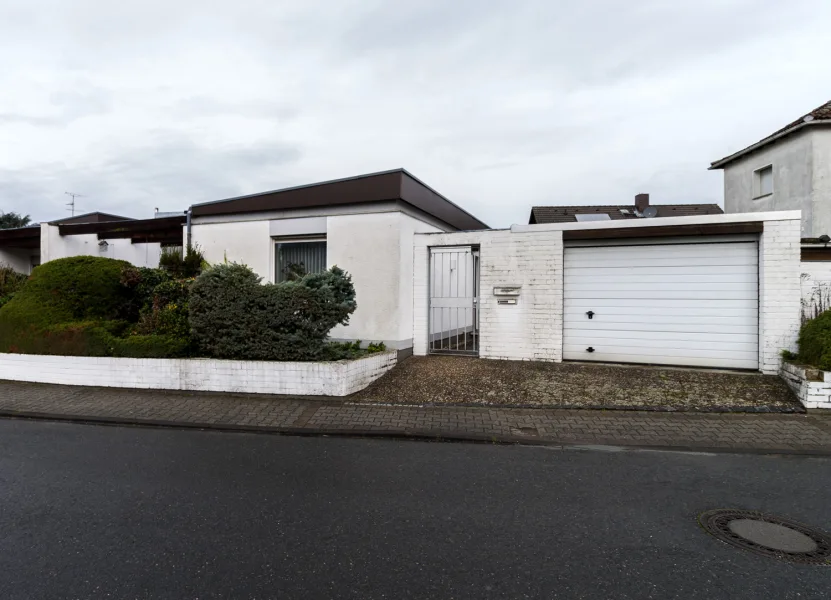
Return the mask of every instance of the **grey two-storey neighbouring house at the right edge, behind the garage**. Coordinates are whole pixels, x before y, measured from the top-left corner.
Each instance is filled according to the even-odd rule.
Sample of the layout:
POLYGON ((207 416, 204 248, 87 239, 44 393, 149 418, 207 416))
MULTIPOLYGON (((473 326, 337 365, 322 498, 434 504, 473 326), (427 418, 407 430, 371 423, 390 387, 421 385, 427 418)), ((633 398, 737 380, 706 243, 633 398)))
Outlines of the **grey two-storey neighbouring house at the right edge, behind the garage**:
POLYGON ((727 213, 800 210, 804 317, 831 307, 831 101, 713 162, 727 213))

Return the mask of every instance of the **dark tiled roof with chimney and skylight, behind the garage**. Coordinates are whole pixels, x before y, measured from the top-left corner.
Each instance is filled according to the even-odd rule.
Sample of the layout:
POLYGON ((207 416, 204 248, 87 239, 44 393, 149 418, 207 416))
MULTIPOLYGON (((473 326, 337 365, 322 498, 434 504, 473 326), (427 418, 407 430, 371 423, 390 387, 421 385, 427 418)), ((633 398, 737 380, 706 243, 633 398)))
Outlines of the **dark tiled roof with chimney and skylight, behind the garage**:
POLYGON ((581 221, 617 221, 644 217, 695 217, 720 215, 718 204, 649 204, 649 194, 635 196, 634 204, 603 206, 535 206, 530 225, 543 223, 579 223, 581 221), (649 210, 649 209, 652 210, 649 210))

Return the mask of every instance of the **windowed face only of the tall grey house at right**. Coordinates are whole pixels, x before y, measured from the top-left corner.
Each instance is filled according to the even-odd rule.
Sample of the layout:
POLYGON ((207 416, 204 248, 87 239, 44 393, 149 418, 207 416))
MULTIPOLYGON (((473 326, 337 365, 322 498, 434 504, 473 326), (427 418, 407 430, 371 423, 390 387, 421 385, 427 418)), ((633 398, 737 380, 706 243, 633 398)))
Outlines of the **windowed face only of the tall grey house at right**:
POLYGON ((724 212, 802 211, 802 237, 811 237, 812 164, 814 145, 810 130, 782 138, 744 156, 724 169, 724 212), (773 165, 773 194, 753 197, 753 173, 773 165))

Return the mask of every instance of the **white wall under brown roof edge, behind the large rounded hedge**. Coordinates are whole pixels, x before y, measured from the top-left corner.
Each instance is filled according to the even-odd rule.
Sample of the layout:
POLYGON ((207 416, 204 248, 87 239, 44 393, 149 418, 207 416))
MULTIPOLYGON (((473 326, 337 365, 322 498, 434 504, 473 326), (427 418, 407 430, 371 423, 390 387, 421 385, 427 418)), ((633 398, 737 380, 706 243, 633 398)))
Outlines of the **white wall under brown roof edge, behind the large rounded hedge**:
POLYGON ((102 256, 126 260, 137 267, 158 267, 161 244, 133 244, 129 239, 105 240, 106 249, 98 243, 94 233, 85 235, 60 235, 56 225, 43 223, 40 235, 41 262, 69 256, 102 256))

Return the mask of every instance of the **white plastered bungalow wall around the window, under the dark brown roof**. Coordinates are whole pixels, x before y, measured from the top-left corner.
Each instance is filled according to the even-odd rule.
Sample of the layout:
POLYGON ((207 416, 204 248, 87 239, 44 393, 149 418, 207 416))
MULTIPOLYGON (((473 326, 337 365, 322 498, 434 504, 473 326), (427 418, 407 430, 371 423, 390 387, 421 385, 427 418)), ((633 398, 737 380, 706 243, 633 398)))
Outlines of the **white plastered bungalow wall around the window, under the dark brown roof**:
POLYGON ((326 240, 327 265, 352 276, 357 310, 334 340, 384 342, 393 349, 413 345, 413 235, 442 231, 440 222, 396 203, 356 211, 308 209, 262 214, 195 217, 191 240, 211 264, 246 264, 274 282, 276 244, 326 240))

